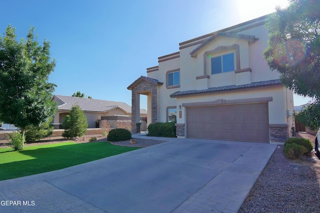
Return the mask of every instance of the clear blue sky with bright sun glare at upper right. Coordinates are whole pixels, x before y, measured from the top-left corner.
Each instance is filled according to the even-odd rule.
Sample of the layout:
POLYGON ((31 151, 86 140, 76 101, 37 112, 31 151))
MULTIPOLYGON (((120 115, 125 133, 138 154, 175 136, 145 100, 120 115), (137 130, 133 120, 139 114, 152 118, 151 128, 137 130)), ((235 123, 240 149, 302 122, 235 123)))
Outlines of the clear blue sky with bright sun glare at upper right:
MULTIPOLYGON (((80 91, 95 99, 131 105, 134 80, 178 43, 268 13, 287 0, 10 0, 1 2, 0 33, 8 24, 17 38, 29 25, 38 42, 51 42, 56 60, 49 82, 54 94, 80 91), (258 3, 257 3, 258 2, 258 3)), ((294 105, 309 99, 295 96, 294 105)), ((141 108, 146 99, 141 97, 141 108)))

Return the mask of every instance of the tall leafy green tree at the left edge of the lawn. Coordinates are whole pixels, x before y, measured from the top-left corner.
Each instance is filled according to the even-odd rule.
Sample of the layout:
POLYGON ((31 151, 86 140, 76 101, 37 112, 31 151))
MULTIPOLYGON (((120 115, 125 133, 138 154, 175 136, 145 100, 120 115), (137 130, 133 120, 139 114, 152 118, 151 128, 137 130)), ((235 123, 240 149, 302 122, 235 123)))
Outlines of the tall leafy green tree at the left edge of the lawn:
POLYGON ((54 87, 48 83, 55 60, 50 59, 49 41, 42 46, 29 27, 26 41, 16 40, 15 28, 8 25, 0 35, 0 120, 21 130, 52 117, 57 106, 50 99, 54 87))

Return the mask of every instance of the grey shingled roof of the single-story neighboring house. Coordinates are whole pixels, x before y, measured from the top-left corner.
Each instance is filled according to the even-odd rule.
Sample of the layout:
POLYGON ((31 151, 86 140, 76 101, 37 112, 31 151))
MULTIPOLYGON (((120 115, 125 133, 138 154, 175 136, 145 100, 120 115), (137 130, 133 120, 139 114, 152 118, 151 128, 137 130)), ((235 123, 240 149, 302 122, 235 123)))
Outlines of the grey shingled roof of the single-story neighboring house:
MULTIPOLYGON (((126 113, 131 113, 131 106, 127 105, 124 102, 79 98, 63 95, 54 95, 51 100, 53 99, 58 102, 59 110, 70 110, 73 105, 79 105, 81 110, 87 112, 107 112, 114 108, 120 108, 126 113)), ((146 111, 140 109, 140 113, 146 114, 146 111)))

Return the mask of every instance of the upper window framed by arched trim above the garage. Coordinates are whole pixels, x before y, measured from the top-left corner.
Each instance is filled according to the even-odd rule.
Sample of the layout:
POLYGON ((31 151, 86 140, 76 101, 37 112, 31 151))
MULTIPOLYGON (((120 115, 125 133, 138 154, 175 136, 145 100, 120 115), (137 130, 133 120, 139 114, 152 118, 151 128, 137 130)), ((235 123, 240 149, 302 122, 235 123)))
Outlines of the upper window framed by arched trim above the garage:
POLYGON ((233 53, 211 58, 211 74, 234 71, 233 53))

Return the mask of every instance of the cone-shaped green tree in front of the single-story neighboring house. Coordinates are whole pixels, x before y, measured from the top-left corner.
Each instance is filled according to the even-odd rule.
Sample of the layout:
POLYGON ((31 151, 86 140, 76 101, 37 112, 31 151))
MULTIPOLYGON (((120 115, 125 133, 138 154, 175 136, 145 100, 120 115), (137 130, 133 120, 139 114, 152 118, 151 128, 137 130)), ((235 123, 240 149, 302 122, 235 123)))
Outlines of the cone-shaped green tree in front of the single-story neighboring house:
POLYGON ((83 111, 78 105, 71 107, 69 115, 64 118, 62 127, 64 129, 62 137, 64 138, 81 137, 86 134, 88 124, 83 111))

